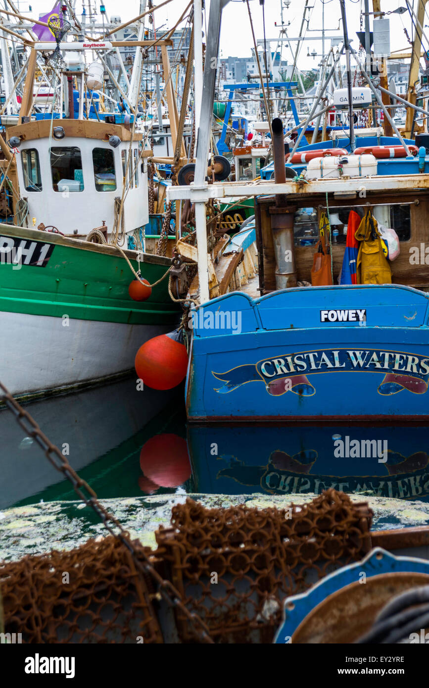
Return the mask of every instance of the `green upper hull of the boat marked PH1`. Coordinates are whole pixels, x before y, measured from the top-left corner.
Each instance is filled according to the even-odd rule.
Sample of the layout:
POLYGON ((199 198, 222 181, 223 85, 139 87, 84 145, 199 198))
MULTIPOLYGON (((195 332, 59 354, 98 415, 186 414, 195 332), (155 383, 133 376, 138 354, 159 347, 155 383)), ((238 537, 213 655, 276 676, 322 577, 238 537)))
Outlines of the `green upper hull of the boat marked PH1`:
MULTIPOLYGON (((42 233, 41 233, 42 234, 42 233)), ((39 239, 43 241, 43 237, 39 239)), ((154 283, 168 265, 151 263, 146 255, 142 277, 154 283)), ((137 270, 137 261, 131 261, 137 270)), ((133 273, 117 255, 56 244, 47 264, 0 263, 0 312, 17 312, 61 318, 128 323, 174 325, 179 307, 168 294, 168 277, 155 286, 147 301, 133 301, 128 287, 133 273)))

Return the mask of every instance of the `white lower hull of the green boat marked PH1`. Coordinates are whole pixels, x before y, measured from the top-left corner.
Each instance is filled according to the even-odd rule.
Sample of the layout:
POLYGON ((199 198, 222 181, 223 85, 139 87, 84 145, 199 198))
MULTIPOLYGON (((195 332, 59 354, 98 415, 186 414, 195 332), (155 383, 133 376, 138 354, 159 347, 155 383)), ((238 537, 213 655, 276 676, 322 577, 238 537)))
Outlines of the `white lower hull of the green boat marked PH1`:
POLYGON ((126 325, 0 312, 0 380, 14 395, 72 387, 133 368, 168 325, 126 325))

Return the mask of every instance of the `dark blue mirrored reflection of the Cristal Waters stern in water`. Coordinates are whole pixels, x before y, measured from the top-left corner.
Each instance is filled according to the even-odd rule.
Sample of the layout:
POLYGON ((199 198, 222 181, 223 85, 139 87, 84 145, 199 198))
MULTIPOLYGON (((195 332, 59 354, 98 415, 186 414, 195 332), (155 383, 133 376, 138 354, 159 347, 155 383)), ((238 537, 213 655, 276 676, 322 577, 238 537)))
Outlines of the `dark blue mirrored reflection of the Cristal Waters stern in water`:
POLYGON ((422 425, 188 426, 195 491, 320 494, 333 487, 429 499, 429 436, 422 425))

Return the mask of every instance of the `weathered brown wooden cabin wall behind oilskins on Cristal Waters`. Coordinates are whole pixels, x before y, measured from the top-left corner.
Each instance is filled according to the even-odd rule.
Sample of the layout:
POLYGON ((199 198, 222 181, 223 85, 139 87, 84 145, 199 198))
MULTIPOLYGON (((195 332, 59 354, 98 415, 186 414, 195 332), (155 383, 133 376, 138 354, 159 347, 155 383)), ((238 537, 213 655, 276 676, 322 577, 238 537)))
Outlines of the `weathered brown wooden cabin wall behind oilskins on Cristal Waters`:
MULTIPOLYGON (((325 209, 326 197, 310 196, 291 196, 291 204, 296 208, 313 207, 318 208, 319 214, 322 206, 325 209)), ((274 254, 274 244, 272 240, 270 206, 274 205, 274 196, 261 197, 255 203, 256 206, 256 243, 260 261, 259 287, 261 294, 267 294, 276 289, 276 258, 274 254)), ((389 203, 411 203, 410 205, 410 229, 411 238, 408 241, 399 242, 399 256, 389 265, 392 270, 392 282, 414 287, 422 291, 429 291, 429 195, 427 191, 415 189, 410 192, 398 193, 388 196, 382 193, 371 193, 371 197, 365 199, 336 200, 329 197, 329 210, 333 212, 340 206, 366 206, 367 203, 389 204, 389 203), (416 205, 414 202, 418 200, 416 205), (421 252, 421 244, 428 247, 428 263, 412 264, 410 257, 412 248, 418 248, 421 252)), ((317 246, 317 245, 316 245, 317 246)), ((311 282, 311 267, 313 266, 313 256, 316 246, 295 246, 296 273, 298 281, 311 282)), ((342 268, 345 244, 333 244, 333 283, 338 284, 338 275, 342 268)))

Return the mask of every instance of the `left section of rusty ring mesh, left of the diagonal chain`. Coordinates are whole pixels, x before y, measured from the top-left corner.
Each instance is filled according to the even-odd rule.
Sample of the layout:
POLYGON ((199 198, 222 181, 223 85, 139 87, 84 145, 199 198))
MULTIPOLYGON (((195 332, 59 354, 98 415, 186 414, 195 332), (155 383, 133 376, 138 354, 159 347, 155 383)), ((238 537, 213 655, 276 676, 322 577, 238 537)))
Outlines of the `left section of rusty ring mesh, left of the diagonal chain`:
POLYGON ((3 563, 0 588, 23 643, 162 643, 150 581, 115 537, 3 563))

